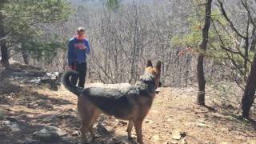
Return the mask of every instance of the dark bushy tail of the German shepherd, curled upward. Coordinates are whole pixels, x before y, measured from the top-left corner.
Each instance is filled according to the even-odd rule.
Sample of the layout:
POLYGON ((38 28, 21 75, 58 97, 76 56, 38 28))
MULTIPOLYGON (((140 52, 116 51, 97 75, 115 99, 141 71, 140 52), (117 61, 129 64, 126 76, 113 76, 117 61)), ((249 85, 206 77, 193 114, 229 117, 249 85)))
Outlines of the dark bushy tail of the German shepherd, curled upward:
POLYGON ((76 94, 78 97, 82 93, 82 87, 74 86, 70 82, 70 77, 78 77, 78 72, 74 70, 68 70, 62 75, 62 84, 66 87, 67 90, 76 94))

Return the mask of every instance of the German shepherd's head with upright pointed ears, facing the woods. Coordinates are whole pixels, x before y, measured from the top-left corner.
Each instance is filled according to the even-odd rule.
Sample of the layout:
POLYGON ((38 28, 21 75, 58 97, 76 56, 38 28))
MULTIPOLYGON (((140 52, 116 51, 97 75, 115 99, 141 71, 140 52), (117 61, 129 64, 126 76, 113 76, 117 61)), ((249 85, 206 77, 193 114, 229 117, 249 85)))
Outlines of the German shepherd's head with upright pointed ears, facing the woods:
POLYGON ((161 75, 161 62, 158 61, 156 66, 152 65, 152 62, 149 60, 146 63, 145 73, 154 75, 155 88, 157 89, 161 86, 160 75, 161 75))

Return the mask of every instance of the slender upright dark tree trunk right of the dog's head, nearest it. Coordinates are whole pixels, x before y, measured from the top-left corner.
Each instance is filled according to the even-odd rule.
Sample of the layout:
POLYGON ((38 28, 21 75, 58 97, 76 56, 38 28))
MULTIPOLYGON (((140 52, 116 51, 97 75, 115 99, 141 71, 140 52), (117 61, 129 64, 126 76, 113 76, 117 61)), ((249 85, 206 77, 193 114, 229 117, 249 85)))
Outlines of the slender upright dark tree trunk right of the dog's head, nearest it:
POLYGON ((211 2, 212 0, 206 1, 206 16, 205 24, 202 28, 202 42, 199 44, 199 55, 198 55, 198 105, 205 106, 205 86, 206 80, 204 77, 203 60, 204 54, 206 53, 206 47, 208 43, 208 32, 210 28, 210 14, 211 14, 211 2))

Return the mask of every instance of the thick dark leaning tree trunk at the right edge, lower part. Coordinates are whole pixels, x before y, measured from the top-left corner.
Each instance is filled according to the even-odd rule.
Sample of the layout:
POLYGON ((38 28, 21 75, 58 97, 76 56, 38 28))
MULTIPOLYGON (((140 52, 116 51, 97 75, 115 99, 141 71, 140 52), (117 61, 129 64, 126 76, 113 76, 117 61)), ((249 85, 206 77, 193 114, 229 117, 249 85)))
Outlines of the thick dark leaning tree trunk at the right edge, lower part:
POLYGON ((251 70, 246 82, 246 89, 242 95, 242 117, 249 118, 250 107, 254 103, 255 89, 256 89, 256 54, 254 54, 254 61, 251 64, 251 70))

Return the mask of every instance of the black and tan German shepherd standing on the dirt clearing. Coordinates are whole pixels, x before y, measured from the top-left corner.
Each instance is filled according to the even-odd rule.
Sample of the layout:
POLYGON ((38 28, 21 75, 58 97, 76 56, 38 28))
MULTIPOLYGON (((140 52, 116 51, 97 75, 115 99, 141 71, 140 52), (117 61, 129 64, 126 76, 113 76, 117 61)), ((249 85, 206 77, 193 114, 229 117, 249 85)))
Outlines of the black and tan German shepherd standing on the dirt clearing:
POLYGON ((89 131, 93 139, 94 122, 102 113, 114 115, 116 118, 128 120, 127 133, 129 141, 133 126, 137 134, 138 143, 142 144, 142 121, 150 110, 156 89, 160 83, 161 62, 155 67, 152 62, 146 64, 145 73, 134 85, 125 88, 117 86, 96 86, 82 89, 70 83, 70 76, 77 75, 74 71, 67 71, 62 76, 62 84, 70 92, 78 95, 78 113, 82 118, 80 128, 82 138, 86 141, 86 133, 89 131))

